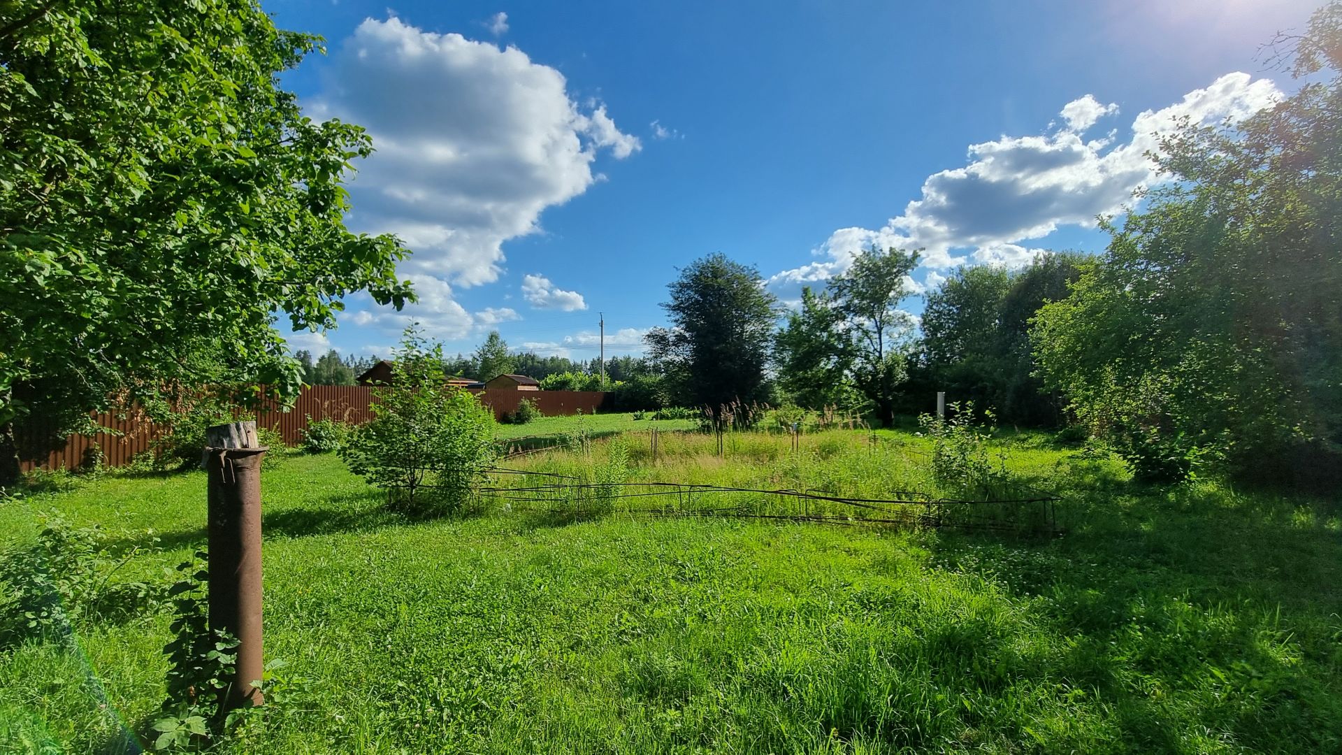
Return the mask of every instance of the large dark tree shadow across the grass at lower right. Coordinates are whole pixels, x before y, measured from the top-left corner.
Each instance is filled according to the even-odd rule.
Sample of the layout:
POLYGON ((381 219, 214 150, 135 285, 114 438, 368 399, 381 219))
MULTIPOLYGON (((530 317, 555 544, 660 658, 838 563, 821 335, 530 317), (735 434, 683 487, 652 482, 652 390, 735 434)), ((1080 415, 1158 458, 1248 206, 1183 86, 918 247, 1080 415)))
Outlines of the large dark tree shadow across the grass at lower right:
POLYGON ((1197 729, 1264 750, 1325 751, 1342 738, 1342 700, 1326 682, 1338 670, 1342 531, 1326 502, 1131 482, 1072 505, 1055 541, 938 533, 933 563, 990 580, 1066 637, 1049 676, 1111 704, 1127 747, 1177 750, 1197 729))

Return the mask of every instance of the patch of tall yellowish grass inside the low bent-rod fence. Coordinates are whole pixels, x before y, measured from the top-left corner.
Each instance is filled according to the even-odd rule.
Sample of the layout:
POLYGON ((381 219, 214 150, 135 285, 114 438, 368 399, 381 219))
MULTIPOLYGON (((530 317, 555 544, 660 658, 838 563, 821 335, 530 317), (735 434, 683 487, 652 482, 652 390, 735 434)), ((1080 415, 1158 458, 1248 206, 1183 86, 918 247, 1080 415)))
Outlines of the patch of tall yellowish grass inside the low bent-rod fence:
POLYGON ((662 433, 654 458, 648 434, 624 433, 509 461, 509 473, 490 481, 486 502, 574 516, 823 516, 1023 532, 1052 523, 1052 504, 1041 500, 1048 492, 1008 474, 990 489, 966 489, 930 465, 927 442, 829 430, 793 443, 790 435, 729 433, 719 454, 713 434, 662 433), (612 465, 620 469, 615 484, 607 474, 612 465))

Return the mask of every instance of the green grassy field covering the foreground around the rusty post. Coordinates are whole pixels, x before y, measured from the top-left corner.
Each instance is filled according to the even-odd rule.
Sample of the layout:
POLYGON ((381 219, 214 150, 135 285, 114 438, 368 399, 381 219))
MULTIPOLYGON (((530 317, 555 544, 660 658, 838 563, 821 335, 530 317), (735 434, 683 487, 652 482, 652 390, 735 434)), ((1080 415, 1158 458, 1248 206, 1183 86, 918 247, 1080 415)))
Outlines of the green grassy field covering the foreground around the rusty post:
MULTIPOLYGON (((615 443, 632 480, 926 484, 923 439, 875 438, 823 433, 793 455, 746 434, 718 458, 713 438, 667 437, 652 465, 636 433, 509 465, 603 469, 615 443)), ((1146 488, 1043 437, 1005 447, 1064 496, 1064 536, 498 504, 411 521, 337 458, 290 455, 263 484, 266 654, 299 681, 223 750, 1342 748, 1337 501, 1146 488)), ((5 502, 0 532, 31 541, 56 509, 118 549, 156 544, 115 579, 154 578, 204 543, 204 489, 197 472, 107 477, 5 502)), ((0 650, 0 750, 98 751, 142 728, 168 625, 164 609, 0 650)))

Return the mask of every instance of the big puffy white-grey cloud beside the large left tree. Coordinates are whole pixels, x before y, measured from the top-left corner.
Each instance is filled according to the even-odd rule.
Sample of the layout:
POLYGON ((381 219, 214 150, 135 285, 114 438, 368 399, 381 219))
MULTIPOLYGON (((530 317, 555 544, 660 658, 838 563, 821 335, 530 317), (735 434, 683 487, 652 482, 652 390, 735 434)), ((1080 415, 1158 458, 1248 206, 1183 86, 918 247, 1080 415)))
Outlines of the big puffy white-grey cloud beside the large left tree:
POLYGON ((315 117, 361 124, 376 152, 350 184, 352 227, 395 232, 407 270, 460 286, 495 281, 503 242, 596 180, 600 152, 637 137, 604 105, 578 106, 562 74, 515 47, 368 19, 333 55, 315 117))

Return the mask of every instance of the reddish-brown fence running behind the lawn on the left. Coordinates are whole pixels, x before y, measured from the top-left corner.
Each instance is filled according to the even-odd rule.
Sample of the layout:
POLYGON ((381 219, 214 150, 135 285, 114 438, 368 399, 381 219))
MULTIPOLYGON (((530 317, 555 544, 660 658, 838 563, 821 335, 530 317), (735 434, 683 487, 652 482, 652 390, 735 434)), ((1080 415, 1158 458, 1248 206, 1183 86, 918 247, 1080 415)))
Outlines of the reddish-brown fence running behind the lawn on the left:
MULTIPOLYGON (((263 406, 256 410, 256 425, 278 430, 285 443, 298 443, 303 438, 307 419, 338 419, 350 425, 368 422, 372 418, 369 406, 373 402, 374 388, 369 386, 307 386, 298 395, 298 400, 289 411, 279 411, 275 406, 263 406)), ((582 414, 596 414, 609 410, 611 394, 604 391, 514 391, 490 388, 472 391, 482 403, 494 410, 494 416, 514 411, 522 399, 535 403, 541 414, 569 415, 582 411, 582 414)), ((25 453, 21 459, 23 469, 75 469, 89 458, 94 447, 102 449, 103 463, 106 466, 125 466, 140 453, 152 449, 153 442, 166 431, 166 427, 150 422, 138 412, 130 412, 125 418, 118 418, 111 412, 94 412, 93 420, 110 430, 95 435, 70 435, 63 447, 47 453, 25 453)), ((31 426, 25 438, 20 438, 21 447, 40 447, 40 438, 44 435, 40 425, 31 426)), ((50 433, 46 433, 50 435, 50 433)))

